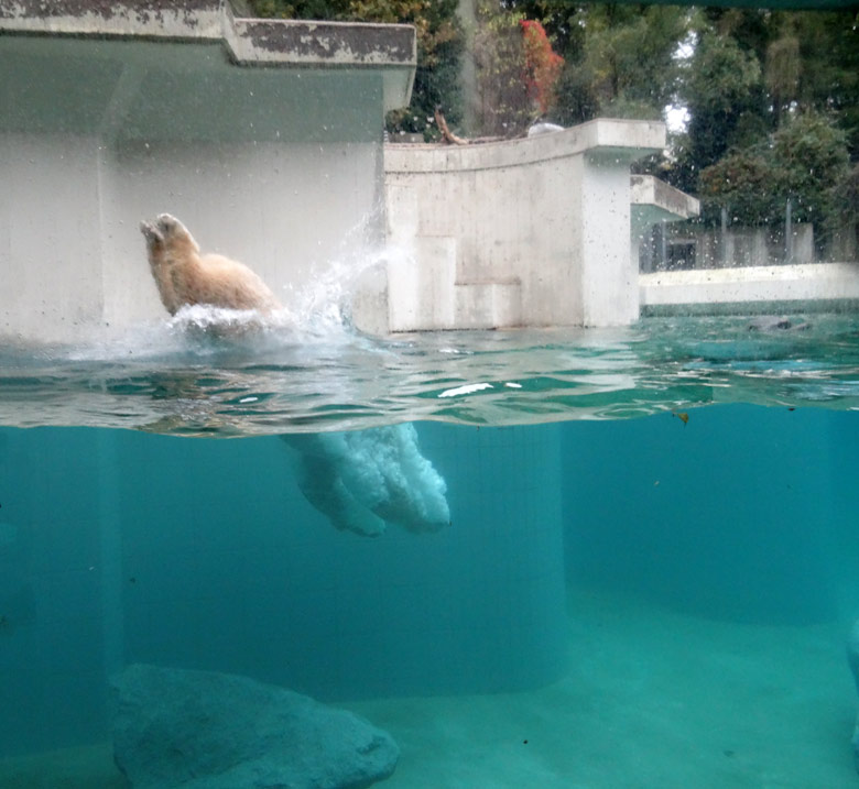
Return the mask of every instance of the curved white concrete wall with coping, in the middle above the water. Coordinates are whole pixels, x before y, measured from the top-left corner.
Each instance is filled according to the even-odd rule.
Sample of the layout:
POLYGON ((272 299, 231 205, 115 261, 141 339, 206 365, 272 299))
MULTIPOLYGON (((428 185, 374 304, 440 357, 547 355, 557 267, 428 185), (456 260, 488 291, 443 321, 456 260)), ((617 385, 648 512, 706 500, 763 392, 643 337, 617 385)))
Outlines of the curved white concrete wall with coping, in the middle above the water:
POLYGON ((385 328, 632 322, 629 165, 664 144, 662 123, 599 119, 481 145, 387 146, 389 241, 412 256, 388 263, 385 328))

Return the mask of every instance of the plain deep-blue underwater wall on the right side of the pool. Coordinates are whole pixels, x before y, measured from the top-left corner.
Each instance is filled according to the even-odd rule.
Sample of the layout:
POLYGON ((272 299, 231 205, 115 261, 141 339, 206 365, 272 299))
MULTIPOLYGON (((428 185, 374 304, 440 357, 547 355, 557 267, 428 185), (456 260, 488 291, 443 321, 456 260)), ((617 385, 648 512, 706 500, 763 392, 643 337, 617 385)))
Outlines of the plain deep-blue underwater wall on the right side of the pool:
POLYGON ((714 405, 562 436, 572 583, 747 624, 859 616, 853 414, 714 405))

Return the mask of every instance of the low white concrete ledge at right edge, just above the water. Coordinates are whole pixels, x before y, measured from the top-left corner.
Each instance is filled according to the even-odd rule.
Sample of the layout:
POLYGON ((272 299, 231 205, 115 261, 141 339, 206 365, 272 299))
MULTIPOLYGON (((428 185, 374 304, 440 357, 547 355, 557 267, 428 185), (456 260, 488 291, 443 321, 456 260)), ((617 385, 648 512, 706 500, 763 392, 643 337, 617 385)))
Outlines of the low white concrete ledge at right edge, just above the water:
POLYGON ((859 266, 850 263, 702 269, 639 276, 644 314, 748 311, 752 305, 815 303, 823 309, 859 302, 859 266))

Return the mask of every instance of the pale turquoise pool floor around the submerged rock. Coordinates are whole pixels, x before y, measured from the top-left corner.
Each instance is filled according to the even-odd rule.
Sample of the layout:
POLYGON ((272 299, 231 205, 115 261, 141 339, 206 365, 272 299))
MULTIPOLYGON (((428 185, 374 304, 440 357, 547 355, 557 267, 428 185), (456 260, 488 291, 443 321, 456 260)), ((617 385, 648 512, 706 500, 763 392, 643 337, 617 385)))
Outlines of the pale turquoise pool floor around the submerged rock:
MULTIPOLYGON (((532 692, 342 703, 402 755, 391 789, 857 785, 846 623, 762 626, 569 594, 569 671, 532 692)), ((0 761, 3 789, 123 787, 109 744, 0 761)))

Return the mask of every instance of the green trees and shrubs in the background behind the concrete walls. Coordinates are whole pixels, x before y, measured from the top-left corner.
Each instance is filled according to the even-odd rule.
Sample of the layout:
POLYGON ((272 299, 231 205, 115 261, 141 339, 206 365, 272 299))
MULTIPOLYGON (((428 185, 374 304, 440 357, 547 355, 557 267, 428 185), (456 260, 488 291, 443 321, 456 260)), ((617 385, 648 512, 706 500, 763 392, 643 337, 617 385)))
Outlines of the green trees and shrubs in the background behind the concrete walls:
MULTIPOLYGON (((823 229, 827 215, 841 223, 855 219, 858 176, 848 167, 848 155, 859 161, 855 10, 569 0, 476 4, 477 30, 469 42, 479 88, 474 131, 512 135, 541 113, 564 125, 597 116, 655 119, 666 105, 682 106, 689 120, 672 136, 672 156, 651 158, 639 169, 699 194, 710 218, 729 206, 740 222, 781 221, 790 197, 798 221, 823 229), (523 22, 526 28, 539 22, 547 34, 534 40, 537 59, 554 64, 540 88, 536 50, 529 54, 524 45, 523 22)), ((389 128, 432 135, 427 119, 436 105, 456 128, 464 48, 457 0, 252 0, 252 6, 269 17, 414 24, 414 97, 406 111, 389 118, 389 128)))

